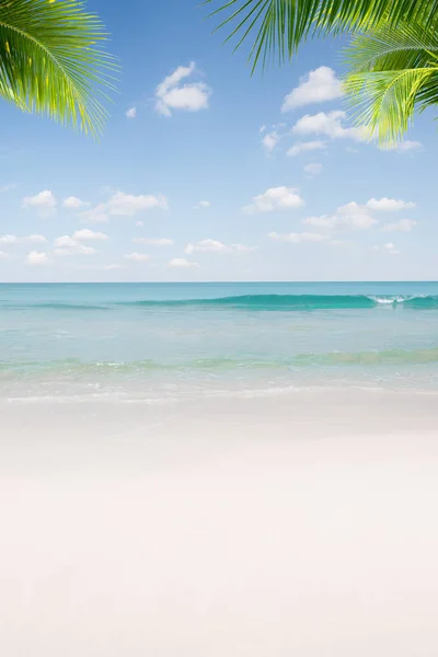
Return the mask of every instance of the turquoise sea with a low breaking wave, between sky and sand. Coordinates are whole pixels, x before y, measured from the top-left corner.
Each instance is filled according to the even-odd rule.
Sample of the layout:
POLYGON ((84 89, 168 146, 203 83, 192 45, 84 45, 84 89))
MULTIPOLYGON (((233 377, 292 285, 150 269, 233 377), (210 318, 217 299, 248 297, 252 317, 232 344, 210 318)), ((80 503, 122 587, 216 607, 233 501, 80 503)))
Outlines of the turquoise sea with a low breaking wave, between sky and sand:
POLYGON ((0 285, 4 399, 438 388, 438 283, 0 285))

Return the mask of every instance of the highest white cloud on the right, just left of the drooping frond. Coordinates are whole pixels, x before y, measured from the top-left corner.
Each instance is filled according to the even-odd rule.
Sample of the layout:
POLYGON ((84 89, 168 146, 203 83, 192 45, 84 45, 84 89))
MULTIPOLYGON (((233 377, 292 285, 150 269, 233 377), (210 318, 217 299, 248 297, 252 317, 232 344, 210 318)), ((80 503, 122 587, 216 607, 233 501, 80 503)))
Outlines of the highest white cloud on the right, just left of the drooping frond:
POLYGON ((333 69, 320 66, 302 78, 300 84, 285 97, 281 112, 290 112, 311 103, 324 103, 344 95, 341 80, 333 69))

